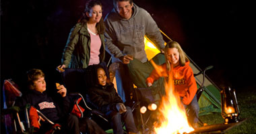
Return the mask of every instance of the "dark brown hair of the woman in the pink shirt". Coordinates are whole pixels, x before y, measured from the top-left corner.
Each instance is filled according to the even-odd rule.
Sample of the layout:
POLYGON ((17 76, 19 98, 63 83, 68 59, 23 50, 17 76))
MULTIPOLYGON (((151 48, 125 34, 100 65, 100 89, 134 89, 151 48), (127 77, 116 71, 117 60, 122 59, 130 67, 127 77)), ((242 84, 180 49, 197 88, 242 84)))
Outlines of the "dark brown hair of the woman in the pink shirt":
MULTIPOLYGON (((82 19, 79 19, 79 21, 80 20, 82 22, 88 21, 89 17, 86 15, 86 12, 90 13, 90 9, 92 9, 92 7, 94 7, 95 5, 100 5, 100 7, 102 8, 102 3, 99 0, 89 0, 86 3, 86 8, 84 9, 83 17, 82 17, 82 19)), ((102 17, 100 18, 100 22, 98 22, 96 24, 96 29, 98 31, 98 34, 104 34, 105 25, 104 25, 104 21, 103 21, 102 17)))

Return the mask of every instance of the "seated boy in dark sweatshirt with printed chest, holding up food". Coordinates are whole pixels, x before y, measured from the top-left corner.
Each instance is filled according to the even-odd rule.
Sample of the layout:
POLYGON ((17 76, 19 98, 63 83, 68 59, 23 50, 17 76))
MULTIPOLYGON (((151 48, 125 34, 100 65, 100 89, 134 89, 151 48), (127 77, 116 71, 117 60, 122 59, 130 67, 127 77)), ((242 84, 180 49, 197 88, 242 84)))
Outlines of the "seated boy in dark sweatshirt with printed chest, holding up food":
MULTIPOLYGON (((60 96, 55 96, 55 98, 60 97, 57 103, 55 100, 53 100, 53 97, 46 93, 46 82, 44 80, 44 73, 42 70, 29 70, 27 72, 27 76, 28 88, 30 91, 28 94, 22 96, 20 100, 17 100, 15 105, 22 108, 27 104, 30 104, 32 107, 31 109, 37 109, 53 123, 60 123, 63 126, 61 127, 61 133, 79 134, 81 130, 79 127, 79 119, 75 115, 69 114, 70 101, 69 97, 67 96, 67 89, 65 86, 57 86, 57 93, 60 94, 60 96)), ((41 119, 40 116, 39 118, 41 119)), ((32 126, 36 124, 34 127, 38 133, 46 133, 53 126, 47 121, 40 121, 40 123, 37 124, 37 120, 38 119, 34 120, 30 118, 30 124, 32 124, 32 126)), ((97 124, 92 120, 84 118, 82 122, 84 125, 86 125, 83 125, 83 127, 88 127, 88 124, 94 125, 98 131, 100 131, 100 133, 104 133, 104 131, 100 129, 100 127, 98 127, 97 124)))

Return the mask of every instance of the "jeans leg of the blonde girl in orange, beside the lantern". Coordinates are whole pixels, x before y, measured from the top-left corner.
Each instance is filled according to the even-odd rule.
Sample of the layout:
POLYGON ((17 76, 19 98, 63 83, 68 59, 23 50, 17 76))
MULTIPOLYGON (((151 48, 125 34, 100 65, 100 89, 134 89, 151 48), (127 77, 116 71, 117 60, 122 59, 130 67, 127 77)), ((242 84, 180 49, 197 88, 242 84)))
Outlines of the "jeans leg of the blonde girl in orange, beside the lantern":
POLYGON ((197 123, 199 121, 198 119, 199 105, 197 102, 197 94, 195 94, 191 103, 189 105, 184 105, 184 107, 185 109, 188 109, 187 117, 188 117, 189 123, 191 123, 191 125, 194 123, 197 123))

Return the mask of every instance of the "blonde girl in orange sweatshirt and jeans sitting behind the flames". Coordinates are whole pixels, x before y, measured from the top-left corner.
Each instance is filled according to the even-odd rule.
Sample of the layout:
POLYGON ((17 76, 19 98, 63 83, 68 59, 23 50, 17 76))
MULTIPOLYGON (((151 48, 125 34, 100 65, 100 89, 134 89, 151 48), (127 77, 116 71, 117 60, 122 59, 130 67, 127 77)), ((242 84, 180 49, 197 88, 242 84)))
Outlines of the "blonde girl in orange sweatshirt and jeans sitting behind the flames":
POLYGON ((181 103, 189 109, 188 119, 193 127, 198 127, 199 105, 197 103, 197 84, 193 75, 193 70, 189 66, 189 58, 185 55, 178 42, 168 42, 164 55, 166 63, 162 64, 157 70, 153 70, 146 80, 148 86, 152 86, 155 80, 160 77, 168 78, 173 74, 172 80, 174 90, 179 93, 181 103), (170 73, 172 71, 172 73, 170 73))

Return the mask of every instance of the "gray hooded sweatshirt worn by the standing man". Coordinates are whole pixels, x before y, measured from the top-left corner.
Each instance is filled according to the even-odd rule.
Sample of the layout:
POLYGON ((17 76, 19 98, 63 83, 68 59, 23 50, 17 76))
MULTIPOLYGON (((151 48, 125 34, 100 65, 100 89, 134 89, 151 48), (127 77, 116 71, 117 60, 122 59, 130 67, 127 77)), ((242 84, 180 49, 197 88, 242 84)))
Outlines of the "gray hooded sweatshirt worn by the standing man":
POLYGON ((146 35, 158 50, 164 48, 164 40, 156 22, 145 9, 133 3, 133 14, 124 19, 114 8, 104 21, 106 25, 106 51, 112 55, 113 62, 121 56, 130 54, 141 62, 147 62, 144 36, 146 35))

